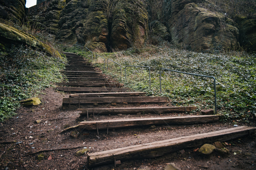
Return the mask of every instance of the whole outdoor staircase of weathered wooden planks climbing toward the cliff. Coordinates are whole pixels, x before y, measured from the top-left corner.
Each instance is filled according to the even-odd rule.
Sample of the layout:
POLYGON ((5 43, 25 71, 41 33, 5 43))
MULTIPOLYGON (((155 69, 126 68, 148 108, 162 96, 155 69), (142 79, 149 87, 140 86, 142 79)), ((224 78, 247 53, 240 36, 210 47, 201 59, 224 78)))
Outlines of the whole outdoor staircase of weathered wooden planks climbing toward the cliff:
MULTIPOLYGON (((115 82, 102 74, 91 63, 84 60, 83 57, 77 56, 74 53, 65 53, 69 60, 66 69, 62 71, 66 82, 58 83, 57 89, 64 92, 76 92, 70 94, 68 98, 63 98, 63 105, 74 105, 80 111, 81 116, 93 114, 100 115, 117 115, 117 114, 136 114, 136 113, 156 113, 162 114, 158 118, 139 118, 139 119, 115 119, 102 121, 82 121, 79 123, 79 128, 87 130, 108 130, 129 128, 134 126, 143 126, 148 128, 151 125, 181 125, 184 124, 202 124, 218 122, 218 116, 179 116, 165 117, 165 113, 177 112, 187 113, 195 110, 194 106, 187 107, 160 107, 156 104, 168 102, 167 97, 147 97, 144 92, 129 92, 129 89, 124 88, 123 84, 115 82), (88 93, 89 92, 89 93, 88 93), (95 104, 93 108, 86 108, 88 104, 95 104), (126 103, 128 106, 119 107, 111 106, 111 108, 97 108, 101 104, 109 103, 126 103), (144 107, 129 107, 132 103, 143 103, 144 107), (154 106, 150 104, 154 103, 154 106), (85 108, 80 108, 80 105, 85 105, 85 108)), ((98 166, 106 163, 114 163, 115 161, 131 160, 137 158, 154 158, 166 153, 176 152, 181 148, 198 147, 204 142, 216 142, 235 139, 249 135, 256 128, 238 127, 222 131, 213 131, 210 133, 202 133, 186 137, 179 137, 164 141, 157 141, 147 144, 135 145, 131 147, 121 147, 113 150, 105 150, 96 153, 88 154, 88 166, 98 166)))

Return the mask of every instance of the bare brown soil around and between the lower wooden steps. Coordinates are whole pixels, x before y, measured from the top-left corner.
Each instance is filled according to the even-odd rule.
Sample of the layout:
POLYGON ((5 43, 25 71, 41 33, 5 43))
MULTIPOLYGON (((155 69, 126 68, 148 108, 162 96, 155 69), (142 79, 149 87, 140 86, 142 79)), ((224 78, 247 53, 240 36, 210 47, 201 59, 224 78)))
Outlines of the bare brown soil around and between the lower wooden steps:
MULTIPOLYGON (((115 129, 107 135, 106 131, 86 131, 83 129, 68 130, 59 134, 66 124, 75 126, 80 121, 86 120, 80 117, 78 111, 71 106, 62 106, 62 98, 68 94, 57 92, 54 88, 44 89, 40 95, 42 104, 38 106, 20 107, 17 116, 0 124, 0 142, 15 141, 14 143, 0 144, 0 169, 88 169, 86 155, 75 156, 76 151, 87 147, 89 153, 110 150, 119 147, 155 142, 175 137, 206 133, 234 127, 232 124, 194 124, 184 126, 157 126, 156 128, 138 127, 129 129, 115 129), (35 124, 35 120, 42 120, 35 124), (53 129, 53 131, 51 131, 53 129), (70 132, 79 132, 78 138, 70 136, 70 132), (67 149, 69 148, 69 149, 67 149), (73 149, 72 149, 73 148, 73 149), (38 160, 40 150, 46 150, 45 159, 38 160), (54 150, 53 149, 60 149, 54 150), (31 154, 31 155, 29 155, 31 154)), ((160 104, 161 105, 161 104, 160 104)), ((152 106, 152 105, 150 105, 152 106)), ((162 104, 166 106, 166 104, 162 104)), ((134 105, 83 105, 84 108, 106 107, 146 107, 142 104, 134 105)), ((147 106, 148 107, 148 106, 147 106)), ((96 116, 97 120, 121 119, 121 118, 146 118, 163 116, 189 116, 184 113, 171 114, 141 114, 122 116, 96 116)), ((89 120, 93 120, 92 117, 89 120)), ((241 126, 242 124, 238 124, 241 126)), ((253 125, 255 126, 255 125, 253 125)), ((195 148, 181 150, 159 158, 141 159, 121 162, 114 167, 113 164, 94 167, 93 169, 139 169, 150 170, 164 169, 169 163, 175 163, 180 169, 256 169, 256 142, 255 135, 226 141, 230 155, 222 157, 217 153, 203 157, 195 148), (241 150, 240 154, 234 154, 234 150, 241 150)))

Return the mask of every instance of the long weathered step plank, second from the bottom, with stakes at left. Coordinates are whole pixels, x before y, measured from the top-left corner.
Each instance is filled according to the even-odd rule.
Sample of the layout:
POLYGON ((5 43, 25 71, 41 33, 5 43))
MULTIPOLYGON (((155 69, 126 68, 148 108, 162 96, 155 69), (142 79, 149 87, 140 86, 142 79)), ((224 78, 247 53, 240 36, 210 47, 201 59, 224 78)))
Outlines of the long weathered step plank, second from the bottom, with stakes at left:
POLYGON ((141 118, 141 119, 121 119, 121 120, 107 120, 107 121, 83 121, 79 123, 79 127, 87 130, 98 129, 115 129, 128 128, 135 126, 149 126, 149 125, 184 125, 184 124, 200 124, 218 122, 219 118, 216 115, 203 116, 180 116, 167 118, 141 118))

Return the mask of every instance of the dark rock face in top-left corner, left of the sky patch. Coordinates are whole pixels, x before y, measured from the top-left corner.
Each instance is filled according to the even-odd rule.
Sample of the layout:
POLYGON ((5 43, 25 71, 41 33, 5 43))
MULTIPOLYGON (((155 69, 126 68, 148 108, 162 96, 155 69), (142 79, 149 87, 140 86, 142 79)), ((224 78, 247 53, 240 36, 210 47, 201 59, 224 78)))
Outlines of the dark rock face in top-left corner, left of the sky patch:
POLYGON ((26 0, 0 0, 0 18, 13 23, 23 22, 26 0))

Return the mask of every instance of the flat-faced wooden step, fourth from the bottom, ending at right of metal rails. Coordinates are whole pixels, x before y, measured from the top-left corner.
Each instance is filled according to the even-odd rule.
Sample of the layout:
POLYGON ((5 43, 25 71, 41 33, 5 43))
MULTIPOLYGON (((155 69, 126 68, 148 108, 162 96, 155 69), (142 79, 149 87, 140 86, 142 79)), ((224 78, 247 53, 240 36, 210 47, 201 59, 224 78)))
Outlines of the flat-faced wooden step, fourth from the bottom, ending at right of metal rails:
POLYGON ((167 97, 86 97, 63 98, 62 104, 85 103, 160 103, 167 102, 167 97))

